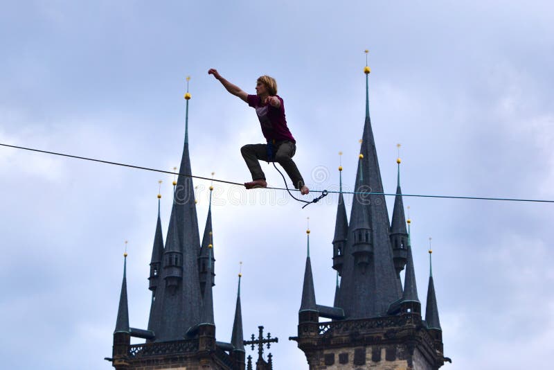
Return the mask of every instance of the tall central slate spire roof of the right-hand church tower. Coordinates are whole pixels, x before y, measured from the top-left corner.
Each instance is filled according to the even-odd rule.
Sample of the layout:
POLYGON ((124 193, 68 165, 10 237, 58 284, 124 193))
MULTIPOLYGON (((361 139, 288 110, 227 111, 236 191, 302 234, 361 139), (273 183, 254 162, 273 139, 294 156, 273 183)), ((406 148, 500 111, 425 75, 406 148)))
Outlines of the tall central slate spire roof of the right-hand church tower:
MULTIPOLYGON (((360 153, 364 158, 358 161, 355 190, 382 193, 383 185, 369 117, 368 100, 366 101, 366 120, 360 153)), ((347 319, 377 317, 386 313, 388 306, 402 297, 402 284, 397 278, 393 264, 389 238, 390 225, 384 195, 356 195, 354 197, 338 302, 338 306, 343 308, 347 319), (375 263, 368 265, 366 273, 362 274, 361 269, 355 265, 351 250, 352 231, 361 221, 363 222, 358 218, 364 217, 364 215, 369 218, 371 226, 375 263)))

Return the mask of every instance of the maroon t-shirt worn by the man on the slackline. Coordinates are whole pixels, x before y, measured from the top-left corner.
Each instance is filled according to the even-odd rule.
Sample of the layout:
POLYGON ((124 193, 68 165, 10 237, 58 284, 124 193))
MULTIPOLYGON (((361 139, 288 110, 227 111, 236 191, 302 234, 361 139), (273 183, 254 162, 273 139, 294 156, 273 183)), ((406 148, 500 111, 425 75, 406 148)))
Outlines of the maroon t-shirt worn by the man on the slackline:
POLYGON ((280 107, 276 108, 269 104, 262 104, 262 99, 257 95, 249 95, 247 97, 248 105, 256 109, 260 125, 262 126, 262 133, 265 139, 276 141, 289 140, 296 143, 294 137, 287 127, 287 120, 285 119, 285 104, 280 96, 276 95, 280 100, 280 107))

